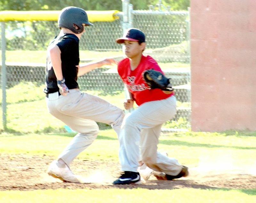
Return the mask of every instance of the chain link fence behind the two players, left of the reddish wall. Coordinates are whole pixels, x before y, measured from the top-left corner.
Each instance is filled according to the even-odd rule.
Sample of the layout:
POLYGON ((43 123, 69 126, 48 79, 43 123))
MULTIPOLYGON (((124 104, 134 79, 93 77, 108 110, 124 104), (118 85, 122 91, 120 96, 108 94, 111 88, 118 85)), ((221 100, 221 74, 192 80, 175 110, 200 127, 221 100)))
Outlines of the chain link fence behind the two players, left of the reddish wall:
MULTIPOLYGON (((132 26, 146 34, 145 53, 154 57, 176 87, 178 111, 167 128, 190 128, 190 71, 188 12, 157 15, 157 12, 133 11, 132 26)), ((90 19, 89 19, 90 20, 90 19)), ((115 39, 123 35, 123 13, 111 22, 93 22, 79 43, 80 61, 124 57, 122 45, 115 39)), ((5 28, 6 128, 17 132, 47 132, 64 129, 52 118, 44 101, 46 49, 60 29, 56 21, 7 21, 5 28), (36 131, 33 127, 36 127, 36 131)), ((3 22, 2 22, 3 29, 3 22)), ((3 38, 3 32, 1 42, 3 38)), ((1 43, 3 46, 3 43, 1 43)), ((1 47, 3 48, 3 47, 1 47)), ((2 49, 4 50, 4 49, 2 49)), ((3 57, 2 57, 3 60, 3 57)), ((3 81, 3 70, 1 82, 3 81)), ((123 108, 124 85, 116 67, 104 66, 78 78, 82 91, 96 94, 123 108)), ((2 83, 3 84, 3 83, 2 83)), ((3 89, 3 86, 1 90, 3 89)), ((3 113, 4 115, 4 113, 3 113)), ((4 118, 1 118, 1 121, 4 118)), ((2 123, 1 126, 4 126, 2 123)))

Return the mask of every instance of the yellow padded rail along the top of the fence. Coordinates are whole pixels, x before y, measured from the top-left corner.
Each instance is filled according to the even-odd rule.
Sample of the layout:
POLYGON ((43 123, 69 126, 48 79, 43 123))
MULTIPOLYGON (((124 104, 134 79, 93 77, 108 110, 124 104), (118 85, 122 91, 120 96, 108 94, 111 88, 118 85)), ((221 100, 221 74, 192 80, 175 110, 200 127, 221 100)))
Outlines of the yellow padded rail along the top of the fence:
MULTIPOLYGON (((0 21, 58 20, 60 11, 0 11, 0 21)), ((114 21, 119 11, 86 11, 89 22, 114 21)))

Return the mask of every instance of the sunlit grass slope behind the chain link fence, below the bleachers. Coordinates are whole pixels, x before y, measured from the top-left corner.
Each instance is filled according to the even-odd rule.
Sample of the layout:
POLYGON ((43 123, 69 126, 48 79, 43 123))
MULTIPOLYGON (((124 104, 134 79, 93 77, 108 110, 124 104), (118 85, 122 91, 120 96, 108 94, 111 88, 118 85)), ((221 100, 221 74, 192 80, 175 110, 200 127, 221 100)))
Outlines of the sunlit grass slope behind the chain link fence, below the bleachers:
MULTIPOLYGON (((49 133, 66 132, 64 123, 48 113, 45 103, 44 85, 35 82, 20 82, 6 90, 7 97, 7 131, 16 133, 49 133)), ((99 96, 113 105, 124 110, 124 92, 107 94, 102 91, 86 91, 88 94, 99 96)), ((0 90, 0 94, 2 94, 0 90)), ((2 103, 2 97, 0 98, 2 103)), ((177 103, 178 106, 187 106, 187 103, 177 103)), ((135 105, 134 105, 135 106, 135 105)), ((99 123, 100 128, 110 128, 107 124, 99 123)), ((182 118, 179 121, 168 122, 165 128, 188 128, 189 123, 182 118)), ((0 115, 0 129, 2 114, 0 115)))

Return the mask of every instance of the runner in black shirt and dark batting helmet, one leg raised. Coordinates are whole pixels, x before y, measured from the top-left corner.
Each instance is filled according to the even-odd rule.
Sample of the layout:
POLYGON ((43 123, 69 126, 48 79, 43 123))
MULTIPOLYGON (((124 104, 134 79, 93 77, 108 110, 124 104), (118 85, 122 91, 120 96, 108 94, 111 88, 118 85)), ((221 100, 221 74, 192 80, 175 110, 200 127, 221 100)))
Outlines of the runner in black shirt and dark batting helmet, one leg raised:
POLYGON ((97 137, 99 127, 95 121, 107 123, 119 134, 124 118, 120 108, 107 101, 79 90, 77 77, 97 67, 115 63, 113 59, 79 66, 79 39, 84 26, 92 26, 86 12, 77 7, 62 9, 58 18, 59 36, 47 49, 45 75, 48 111, 78 132, 57 160, 52 161, 48 174, 66 182, 80 182, 69 166, 97 137))

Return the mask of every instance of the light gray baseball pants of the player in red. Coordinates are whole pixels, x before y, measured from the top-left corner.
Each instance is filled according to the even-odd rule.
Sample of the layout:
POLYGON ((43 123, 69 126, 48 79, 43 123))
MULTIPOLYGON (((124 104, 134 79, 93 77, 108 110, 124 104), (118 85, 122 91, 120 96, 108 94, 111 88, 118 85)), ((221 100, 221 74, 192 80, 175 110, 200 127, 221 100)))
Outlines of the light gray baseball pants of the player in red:
POLYGON ((176 112, 175 96, 146 102, 126 114, 119 135, 119 159, 123 171, 137 172, 142 160, 154 171, 176 176, 181 165, 175 158, 157 152, 161 126, 176 112))

